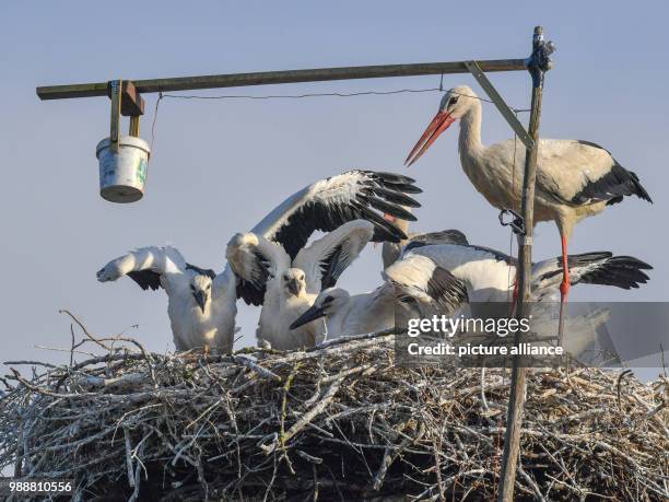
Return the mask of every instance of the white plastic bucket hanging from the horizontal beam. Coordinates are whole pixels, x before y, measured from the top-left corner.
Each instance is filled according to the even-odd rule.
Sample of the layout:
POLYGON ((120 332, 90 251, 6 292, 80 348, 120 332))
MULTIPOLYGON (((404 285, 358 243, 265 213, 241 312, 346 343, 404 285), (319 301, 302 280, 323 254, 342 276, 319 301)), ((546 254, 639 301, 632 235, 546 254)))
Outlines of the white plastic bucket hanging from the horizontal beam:
POLYGON ((144 196, 146 168, 151 150, 149 143, 134 136, 121 136, 118 153, 105 138, 95 149, 99 164, 99 195, 110 202, 136 202, 144 196))

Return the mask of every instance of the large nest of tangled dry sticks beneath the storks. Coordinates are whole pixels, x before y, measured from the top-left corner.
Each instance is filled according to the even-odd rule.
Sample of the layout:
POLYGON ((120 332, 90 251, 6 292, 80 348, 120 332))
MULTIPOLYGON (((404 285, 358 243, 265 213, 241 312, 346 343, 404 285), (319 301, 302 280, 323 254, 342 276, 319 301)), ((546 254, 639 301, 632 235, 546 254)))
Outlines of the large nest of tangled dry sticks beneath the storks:
MULTIPOLYGON (((72 479, 74 500, 496 495, 505 370, 400 367, 389 334, 225 357, 85 341, 105 353, 31 362, 0 394, 0 466, 72 479)), ((669 498, 666 377, 529 370, 527 384, 517 500, 669 498)))

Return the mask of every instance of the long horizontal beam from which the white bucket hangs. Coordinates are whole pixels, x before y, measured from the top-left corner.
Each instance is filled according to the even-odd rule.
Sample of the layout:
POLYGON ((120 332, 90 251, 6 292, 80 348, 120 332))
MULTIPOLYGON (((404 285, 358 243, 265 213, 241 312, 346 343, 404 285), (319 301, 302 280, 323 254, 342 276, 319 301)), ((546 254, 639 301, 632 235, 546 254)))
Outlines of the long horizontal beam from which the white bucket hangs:
MULTIPOLYGON (((492 59, 478 61, 482 71, 525 70, 524 59, 492 59)), ((308 70, 263 71, 220 75, 178 77, 173 79, 134 80, 139 93, 193 91, 201 89, 238 87, 330 80, 378 79, 446 73, 468 73, 465 61, 421 62, 411 65, 377 65, 366 67, 315 68, 308 70)), ((107 82, 49 85, 37 87, 40 100, 94 97, 107 95, 107 82)))

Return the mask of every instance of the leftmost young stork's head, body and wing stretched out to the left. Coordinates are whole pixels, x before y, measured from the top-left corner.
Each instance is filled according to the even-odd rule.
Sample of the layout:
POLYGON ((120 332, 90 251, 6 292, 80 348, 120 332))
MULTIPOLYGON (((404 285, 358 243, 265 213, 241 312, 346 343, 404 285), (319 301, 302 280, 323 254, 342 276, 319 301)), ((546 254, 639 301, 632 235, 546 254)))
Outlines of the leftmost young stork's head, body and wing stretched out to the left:
POLYGON ((142 247, 109 261, 97 280, 116 281, 122 276, 143 290, 165 290, 177 350, 232 351, 237 307, 230 269, 216 275, 187 264, 174 247, 142 247))

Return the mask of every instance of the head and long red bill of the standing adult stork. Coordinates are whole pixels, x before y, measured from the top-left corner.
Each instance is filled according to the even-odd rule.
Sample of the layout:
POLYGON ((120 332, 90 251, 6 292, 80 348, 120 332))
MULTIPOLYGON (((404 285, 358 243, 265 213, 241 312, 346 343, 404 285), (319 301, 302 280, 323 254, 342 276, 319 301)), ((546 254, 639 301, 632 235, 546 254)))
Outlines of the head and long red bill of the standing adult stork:
POLYGON ((418 161, 442 132, 457 119, 462 118, 476 104, 478 96, 468 85, 458 85, 448 90, 442 97, 439 109, 407 156, 404 164, 409 166, 418 161))

